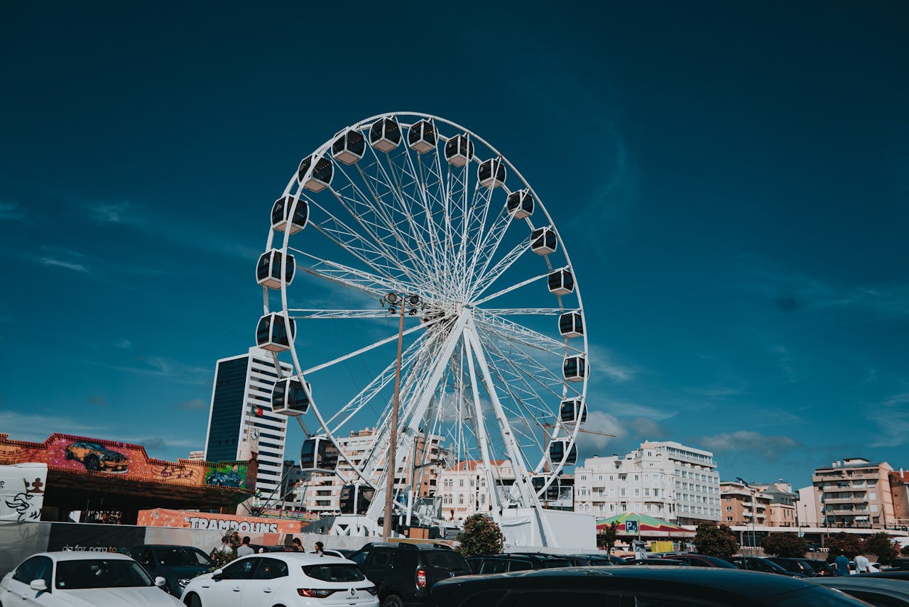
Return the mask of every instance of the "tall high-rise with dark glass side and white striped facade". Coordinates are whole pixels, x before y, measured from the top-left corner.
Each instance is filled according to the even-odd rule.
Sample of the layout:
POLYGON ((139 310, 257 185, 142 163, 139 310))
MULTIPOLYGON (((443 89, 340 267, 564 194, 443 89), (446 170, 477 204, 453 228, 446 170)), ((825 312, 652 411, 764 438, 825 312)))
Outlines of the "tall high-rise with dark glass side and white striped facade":
MULTIPOLYGON (((283 374, 292 373, 281 363, 283 374)), ((243 460, 258 452, 255 488, 263 500, 280 491, 285 460, 287 416, 272 413, 271 395, 277 373, 271 353, 250 348, 248 353, 222 358, 215 367, 205 436, 205 461, 243 460)))

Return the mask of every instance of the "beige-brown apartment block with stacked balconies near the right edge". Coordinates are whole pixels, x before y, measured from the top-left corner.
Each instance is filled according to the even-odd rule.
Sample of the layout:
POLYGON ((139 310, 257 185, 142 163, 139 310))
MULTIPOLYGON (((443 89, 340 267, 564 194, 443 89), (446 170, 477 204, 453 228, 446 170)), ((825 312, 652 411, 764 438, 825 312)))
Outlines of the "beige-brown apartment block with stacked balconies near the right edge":
POLYGON ((812 484, 820 495, 821 524, 884 528, 895 523, 889 463, 846 458, 817 468, 812 484))

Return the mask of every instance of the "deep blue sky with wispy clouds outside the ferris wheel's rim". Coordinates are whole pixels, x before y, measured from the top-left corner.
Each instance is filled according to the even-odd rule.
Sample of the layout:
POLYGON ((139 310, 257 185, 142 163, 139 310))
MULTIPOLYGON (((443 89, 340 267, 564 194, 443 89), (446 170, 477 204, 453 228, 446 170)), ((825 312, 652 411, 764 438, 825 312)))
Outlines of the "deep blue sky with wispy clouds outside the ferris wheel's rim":
POLYGON ((909 466, 905 5, 325 4, 5 6, 0 432, 201 449, 271 203, 346 124, 415 110, 558 226, 587 427, 618 435, 582 454, 909 466))

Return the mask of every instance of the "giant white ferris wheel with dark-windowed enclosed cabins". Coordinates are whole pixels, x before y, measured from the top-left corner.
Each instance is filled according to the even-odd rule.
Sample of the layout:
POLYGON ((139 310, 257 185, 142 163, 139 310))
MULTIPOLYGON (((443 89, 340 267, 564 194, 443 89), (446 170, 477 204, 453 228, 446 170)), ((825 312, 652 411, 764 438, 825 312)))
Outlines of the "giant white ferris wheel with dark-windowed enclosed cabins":
POLYGON ((463 126, 380 114, 315 148, 273 206, 256 278, 256 343, 285 376, 273 409, 303 427, 305 468, 368 493, 354 514, 383 514, 399 360, 397 511, 436 457, 414 448, 428 437, 435 464, 484 464, 474 505, 496 519, 538 511, 575 463, 589 366, 574 270, 533 188, 463 126), (496 476, 503 462, 514 483, 496 476))

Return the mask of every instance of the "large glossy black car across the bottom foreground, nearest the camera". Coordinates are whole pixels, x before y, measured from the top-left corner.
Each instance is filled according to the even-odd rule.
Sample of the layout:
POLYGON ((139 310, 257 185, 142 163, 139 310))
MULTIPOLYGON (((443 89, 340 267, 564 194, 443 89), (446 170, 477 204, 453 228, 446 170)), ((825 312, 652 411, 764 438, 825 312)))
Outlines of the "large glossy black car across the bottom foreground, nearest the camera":
POLYGON ((568 567, 445 580, 438 607, 854 607, 813 582, 713 567, 568 567))

